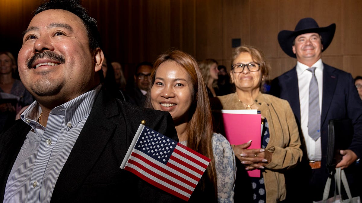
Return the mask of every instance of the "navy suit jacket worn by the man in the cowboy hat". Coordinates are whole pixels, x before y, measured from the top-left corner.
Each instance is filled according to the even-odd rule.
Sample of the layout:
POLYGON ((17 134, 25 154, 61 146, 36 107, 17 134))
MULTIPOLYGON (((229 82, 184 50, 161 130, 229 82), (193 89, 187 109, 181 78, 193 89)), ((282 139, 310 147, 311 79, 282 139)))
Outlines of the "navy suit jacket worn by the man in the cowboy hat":
MULTIPOLYGON (((352 75, 323 63, 323 98, 321 111, 322 167, 327 159, 328 121, 350 118, 354 136, 349 149, 362 157, 362 102, 358 96, 352 75)), ((296 66, 271 83, 270 94, 290 103, 300 129, 300 104, 296 66)), ((299 130, 301 132, 301 130, 299 130)), ((303 138, 303 137, 302 137, 303 138)))

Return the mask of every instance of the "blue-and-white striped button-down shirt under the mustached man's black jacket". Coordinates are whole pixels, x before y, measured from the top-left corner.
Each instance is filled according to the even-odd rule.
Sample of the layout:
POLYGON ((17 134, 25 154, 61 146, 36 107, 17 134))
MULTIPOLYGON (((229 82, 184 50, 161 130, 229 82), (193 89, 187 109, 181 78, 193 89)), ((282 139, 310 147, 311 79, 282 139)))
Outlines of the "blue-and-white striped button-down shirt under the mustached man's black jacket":
POLYGON ((98 85, 52 109, 46 128, 37 122, 42 110, 36 101, 24 111, 21 119, 30 125, 32 130, 26 135, 10 172, 5 188, 5 203, 50 202, 60 171, 100 90, 101 85, 98 85))

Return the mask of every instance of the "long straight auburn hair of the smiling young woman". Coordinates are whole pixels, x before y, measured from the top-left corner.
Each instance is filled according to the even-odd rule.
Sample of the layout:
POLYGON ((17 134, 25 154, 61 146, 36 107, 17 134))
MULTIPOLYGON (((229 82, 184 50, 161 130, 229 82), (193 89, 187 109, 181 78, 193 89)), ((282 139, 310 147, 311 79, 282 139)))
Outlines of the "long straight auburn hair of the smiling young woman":
MULTIPOLYGON (((181 68, 184 68, 189 74, 194 90, 194 98, 189 109, 188 138, 187 146, 200 154, 211 159, 206 169, 207 178, 212 184, 215 191, 215 199, 217 197, 217 182, 214 154, 212 151, 212 115, 209 97, 207 95, 205 82, 197 61, 188 53, 180 50, 171 49, 161 54, 153 63, 151 71, 151 87, 155 83, 155 75, 157 68, 166 61, 174 61, 181 68)), ((146 99, 146 107, 153 108, 151 104, 151 96, 148 94, 146 99)), ((205 184, 205 183, 204 183, 205 184)), ((204 185, 205 186, 205 185, 204 185)))

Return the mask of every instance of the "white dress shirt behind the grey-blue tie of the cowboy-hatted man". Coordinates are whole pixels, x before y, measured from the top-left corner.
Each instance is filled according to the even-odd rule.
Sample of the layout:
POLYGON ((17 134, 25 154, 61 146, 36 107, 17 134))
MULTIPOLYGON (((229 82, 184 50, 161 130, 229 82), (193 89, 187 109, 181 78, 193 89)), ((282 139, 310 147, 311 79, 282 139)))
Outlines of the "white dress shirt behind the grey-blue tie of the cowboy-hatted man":
MULTIPOLYGON (((322 110, 322 96, 323 96, 323 62, 319 59, 311 67, 316 67, 315 75, 318 83, 319 93, 319 113, 322 110)), ((316 141, 313 140, 308 134, 308 111, 309 111, 309 83, 312 79, 312 72, 307 69, 307 65, 297 62, 296 73, 298 75, 298 88, 299 88, 299 104, 300 104, 300 127, 304 141, 306 142, 308 159, 313 161, 320 161, 321 155, 321 138, 316 141)))

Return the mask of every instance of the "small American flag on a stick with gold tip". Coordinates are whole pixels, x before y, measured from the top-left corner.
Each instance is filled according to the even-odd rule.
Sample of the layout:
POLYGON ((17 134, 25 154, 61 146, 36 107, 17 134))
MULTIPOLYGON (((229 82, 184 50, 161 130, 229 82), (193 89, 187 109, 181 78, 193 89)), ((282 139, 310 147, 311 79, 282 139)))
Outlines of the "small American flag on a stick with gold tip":
POLYGON ((188 201, 209 163, 206 156, 141 124, 120 168, 188 201))

